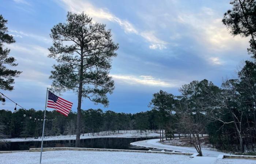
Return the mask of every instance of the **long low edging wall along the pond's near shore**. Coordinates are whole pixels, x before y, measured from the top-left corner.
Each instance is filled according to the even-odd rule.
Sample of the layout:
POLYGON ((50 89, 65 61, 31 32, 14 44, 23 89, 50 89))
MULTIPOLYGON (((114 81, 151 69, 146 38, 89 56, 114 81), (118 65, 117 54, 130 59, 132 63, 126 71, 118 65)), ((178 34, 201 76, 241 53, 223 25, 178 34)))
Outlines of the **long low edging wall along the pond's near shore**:
MULTIPOLYGON (((43 148, 43 151, 108 151, 108 152, 134 152, 134 153, 159 153, 168 155, 187 155, 191 156, 193 153, 181 153, 181 152, 159 152, 159 151, 138 151, 138 150, 124 150, 124 149, 96 149, 96 148, 43 148)), ((41 148, 30 148, 29 152, 40 152, 41 148)))

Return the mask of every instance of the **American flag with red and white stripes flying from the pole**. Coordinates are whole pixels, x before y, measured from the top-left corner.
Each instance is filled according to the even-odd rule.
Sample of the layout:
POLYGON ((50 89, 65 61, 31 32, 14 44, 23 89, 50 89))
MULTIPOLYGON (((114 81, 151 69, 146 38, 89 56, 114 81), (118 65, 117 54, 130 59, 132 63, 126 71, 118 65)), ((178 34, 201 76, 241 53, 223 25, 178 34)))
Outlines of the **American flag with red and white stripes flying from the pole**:
POLYGON ((57 112, 68 116, 73 103, 69 102, 61 97, 56 96, 52 92, 48 91, 47 107, 54 108, 57 112))

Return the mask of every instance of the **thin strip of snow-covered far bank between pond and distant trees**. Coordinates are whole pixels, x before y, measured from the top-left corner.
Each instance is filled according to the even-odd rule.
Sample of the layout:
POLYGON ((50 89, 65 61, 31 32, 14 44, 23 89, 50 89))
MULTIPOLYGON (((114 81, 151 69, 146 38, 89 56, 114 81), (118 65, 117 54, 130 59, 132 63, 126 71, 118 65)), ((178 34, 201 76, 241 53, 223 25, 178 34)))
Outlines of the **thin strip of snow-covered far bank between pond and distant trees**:
MULTIPOLYGON (((143 132, 140 134, 140 132, 137 130, 119 130, 119 133, 114 134, 108 134, 108 132, 99 132, 99 135, 97 133, 94 133, 94 136, 91 133, 84 133, 81 134, 80 139, 86 139, 86 138, 105 138, 105 137, 121 137, 121 138, 135 138, 135 137, 158 137, 159 133, 151 133, 149 130, 147 132, 143 132)), ((44 140, 75 140, 76 136, 69 135, 67 136, 50 136, 45 137, 44 140)), ((38 139, 34 138, 5 138, 4 142, 19 142, 19 141, 41 141, 42 139, 39 137, 38 139)))

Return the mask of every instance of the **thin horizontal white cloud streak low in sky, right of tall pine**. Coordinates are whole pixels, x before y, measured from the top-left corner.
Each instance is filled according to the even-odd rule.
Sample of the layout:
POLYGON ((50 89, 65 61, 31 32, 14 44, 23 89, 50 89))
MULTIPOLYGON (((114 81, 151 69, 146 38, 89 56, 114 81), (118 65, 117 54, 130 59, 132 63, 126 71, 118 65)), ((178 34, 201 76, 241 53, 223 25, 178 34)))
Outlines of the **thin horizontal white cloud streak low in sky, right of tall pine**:
POLYGON ((134 75, 117 75, 117 74, 111 74, 116 81, 121 81, 128 83, 130 85, 148 85, 148 86, 159 86, 159 87, 180 87, 184 82, 180 82, 178 80, 162 80, 162 79, 156 79, 152 76, 145 76, 141 75, 139 77, 136 77, 134 75))

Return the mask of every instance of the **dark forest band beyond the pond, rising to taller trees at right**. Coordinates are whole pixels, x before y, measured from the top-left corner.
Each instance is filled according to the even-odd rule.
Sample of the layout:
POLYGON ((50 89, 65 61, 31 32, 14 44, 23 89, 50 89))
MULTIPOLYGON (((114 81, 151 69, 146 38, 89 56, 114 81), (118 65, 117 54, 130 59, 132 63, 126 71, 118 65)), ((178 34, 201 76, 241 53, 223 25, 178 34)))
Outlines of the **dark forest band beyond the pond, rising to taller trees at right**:
MULTIPOLYGON (((162 140, 174 134, 185 135, 199 152, 201 134, 208 134, 210 143, 221 150, 254 151, 256 65, 246 61, 237 75, 237 79, 228 79, 221 87, 206 79, 192 81, 179 89, 180 95, 160 90, 153 94, 148 105, 151 110, 147 112, 82 110, 81 134, 161 129, 162 140)), ((77 113, 63 117, 56 111, 47 111, 46 116, 46 136, 75 134, 77 113)), ((42 118, 42 110, 0 111, 6 137, 40 137, 42 118)))

